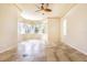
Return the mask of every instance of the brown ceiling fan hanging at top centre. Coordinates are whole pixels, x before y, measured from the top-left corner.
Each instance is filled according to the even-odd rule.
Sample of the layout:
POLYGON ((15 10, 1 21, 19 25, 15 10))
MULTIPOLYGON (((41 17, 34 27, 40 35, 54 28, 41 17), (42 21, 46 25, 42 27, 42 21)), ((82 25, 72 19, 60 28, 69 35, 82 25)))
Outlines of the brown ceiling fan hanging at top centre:
MULTIPOLYGON (((35 4, 36 8, 39 10, 36 10, 35 12, 40 12, 40 11, 44 11, 44 12, 52 12, 52 9, 50 9, 50 4, 48 3, 41 3, 41 6, 39 7, 37 4, 35 4)), ((42 12, 44 14, 44 12, 42 12)))

